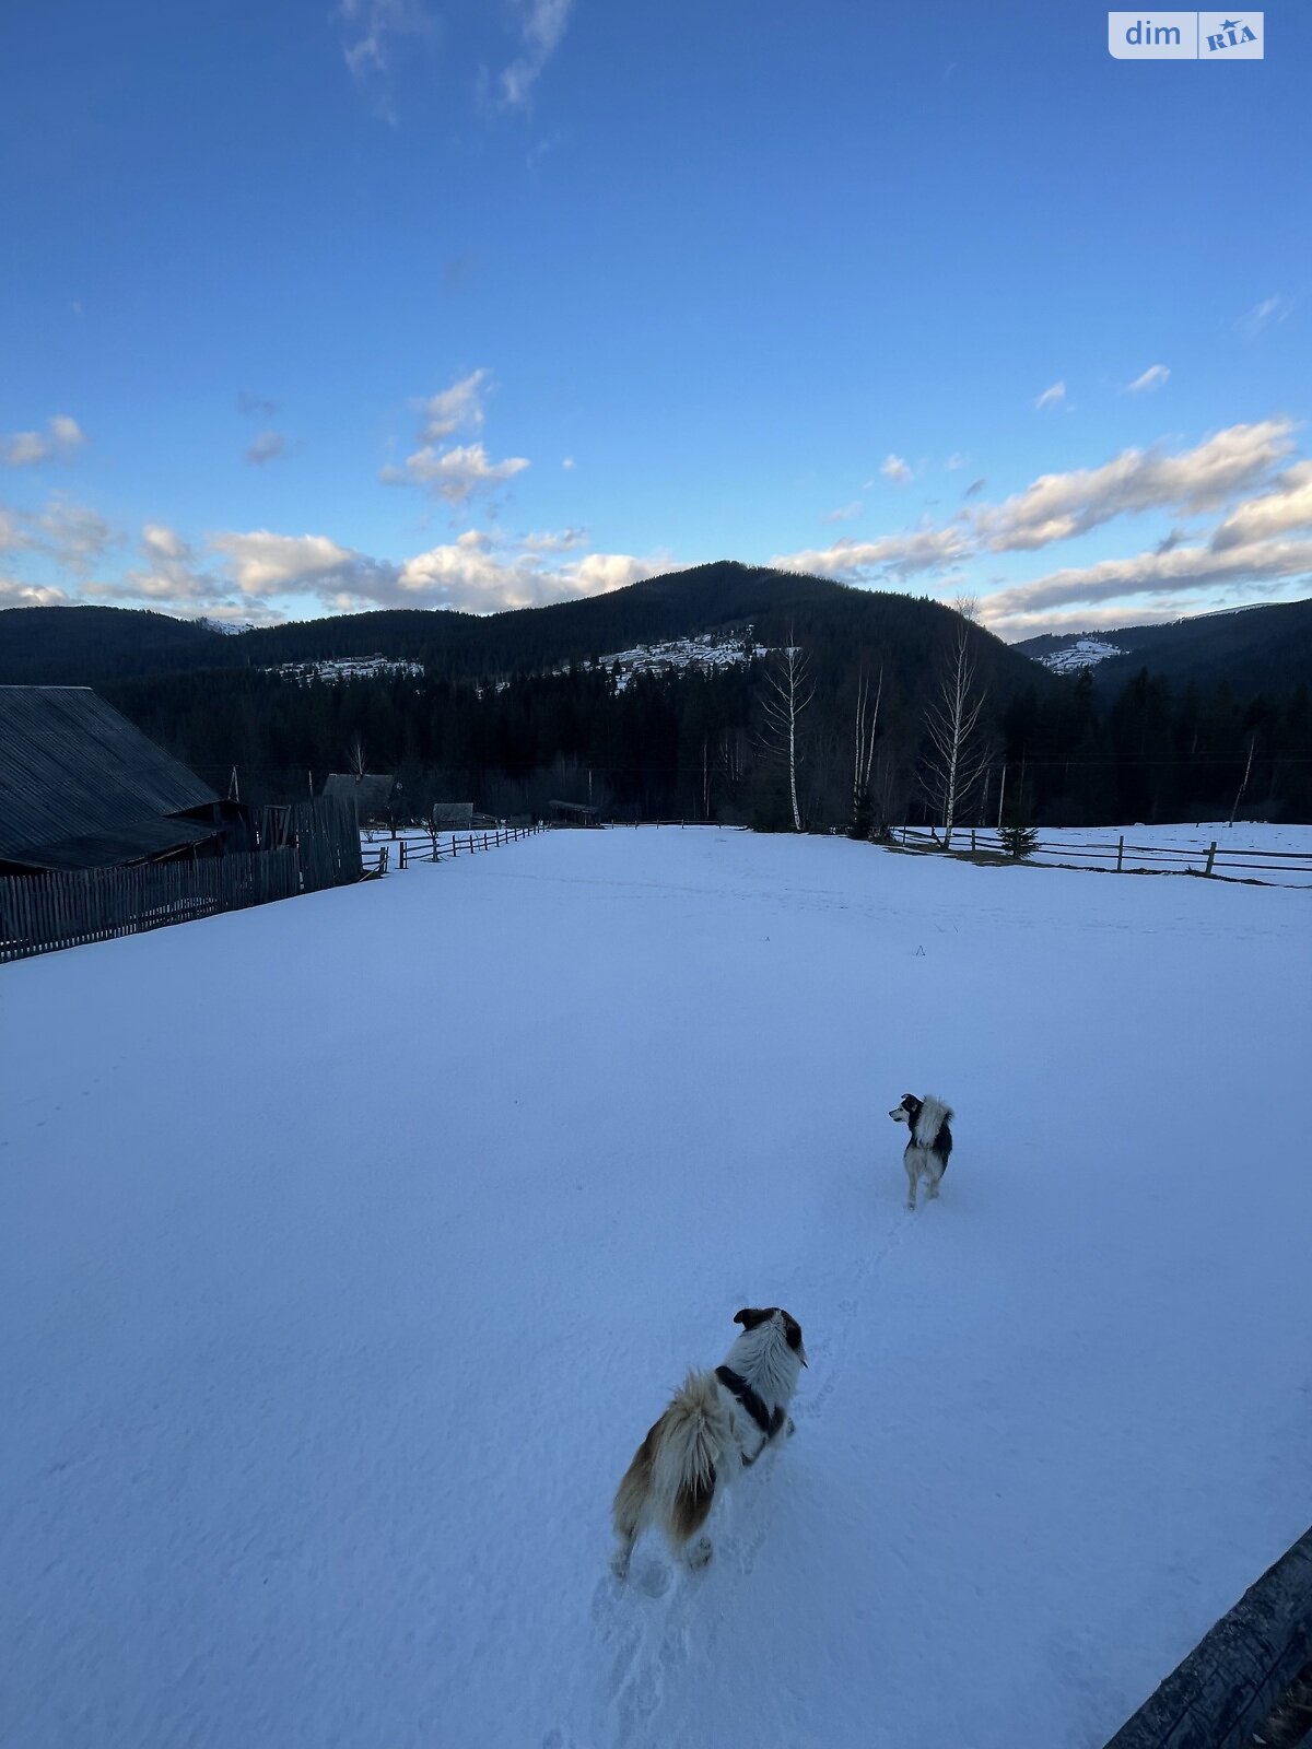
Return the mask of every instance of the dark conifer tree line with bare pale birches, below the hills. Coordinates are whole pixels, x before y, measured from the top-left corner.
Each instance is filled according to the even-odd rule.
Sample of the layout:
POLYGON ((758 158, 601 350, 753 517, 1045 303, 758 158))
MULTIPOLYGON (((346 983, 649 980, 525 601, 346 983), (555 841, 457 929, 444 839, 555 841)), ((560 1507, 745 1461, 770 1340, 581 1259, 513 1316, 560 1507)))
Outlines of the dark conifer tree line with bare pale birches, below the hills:
POLYGON ((967 610, 854 640, 805 616, 773 649, 715 670, 619 675, 576 661, 497 680, 301 680, 213 668, 101 682, 103 694, 215 789, 301 799, 329 771, 399 778, 402 810, 551 799, 614 819, 710 819, 880 836, 999 820, 1114 826, 1312 819, 1307 684, 1237 691, 1146 668, 1111 698, 1004 652, 967 610), (922 626, 922 631, 925 628, 922 626))

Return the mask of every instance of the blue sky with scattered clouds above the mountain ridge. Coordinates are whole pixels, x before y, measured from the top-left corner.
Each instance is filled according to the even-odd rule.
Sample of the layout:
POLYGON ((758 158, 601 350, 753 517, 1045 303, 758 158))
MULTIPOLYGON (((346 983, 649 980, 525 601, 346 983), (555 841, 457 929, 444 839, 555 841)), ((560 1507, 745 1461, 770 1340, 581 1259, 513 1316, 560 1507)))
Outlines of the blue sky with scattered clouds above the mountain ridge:
POLYGON ((0 603, 1309 595, 1310 86, 1302 0, 7 7, 0 603))

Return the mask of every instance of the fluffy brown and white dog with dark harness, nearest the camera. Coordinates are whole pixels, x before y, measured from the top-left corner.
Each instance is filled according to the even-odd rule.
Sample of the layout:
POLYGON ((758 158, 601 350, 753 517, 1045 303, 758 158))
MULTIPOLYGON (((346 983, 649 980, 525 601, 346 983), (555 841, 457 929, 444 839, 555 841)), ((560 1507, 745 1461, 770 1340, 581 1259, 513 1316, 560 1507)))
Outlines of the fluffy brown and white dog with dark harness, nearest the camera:
POLYGON ((787 1406, 806 1364, 801 1324, 782 1307, 743 1307, 733 1322, 742 1336, 724 1364, 687 1375, 616 1490, 618 1579, 628 1578, 628 1557, 647 1525, 659 1525, 686 1567, 705 1567, 712 1550, 698 1530, 715 1495, 780 1434, 792 1438, 787 1406))

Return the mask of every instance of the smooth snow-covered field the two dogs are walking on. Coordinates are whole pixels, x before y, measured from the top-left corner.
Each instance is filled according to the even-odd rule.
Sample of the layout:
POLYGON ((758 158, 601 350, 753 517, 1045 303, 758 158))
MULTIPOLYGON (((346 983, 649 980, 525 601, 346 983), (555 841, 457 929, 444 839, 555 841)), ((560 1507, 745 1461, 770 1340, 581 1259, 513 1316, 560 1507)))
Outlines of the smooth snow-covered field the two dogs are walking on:
POLYGON ((1305 892, 719 831, 7 967, 0 1742, 1095 1749, 1312 1518, 1309 990, 1305 892), (621 1590, 747 1303, 798 1434, 621 1590))

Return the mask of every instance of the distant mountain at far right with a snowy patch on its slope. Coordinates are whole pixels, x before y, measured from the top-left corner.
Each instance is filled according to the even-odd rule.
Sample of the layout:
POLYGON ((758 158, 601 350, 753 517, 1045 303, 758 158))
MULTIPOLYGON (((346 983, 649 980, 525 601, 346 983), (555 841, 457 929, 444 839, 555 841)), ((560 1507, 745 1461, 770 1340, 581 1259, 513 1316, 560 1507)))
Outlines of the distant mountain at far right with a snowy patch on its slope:
POLYGON ((1104 696, 1141 668, 1172 684, 1225 680, 1242 693, 1286 693, 1312 679, 1312 600, 1237 607, 1165 626, 1044 635, 1013 649, 1058 673, 1092 666, 1104 696), (1079 661, 1081 644, 1092 649, 1090 661, 1079 661))

